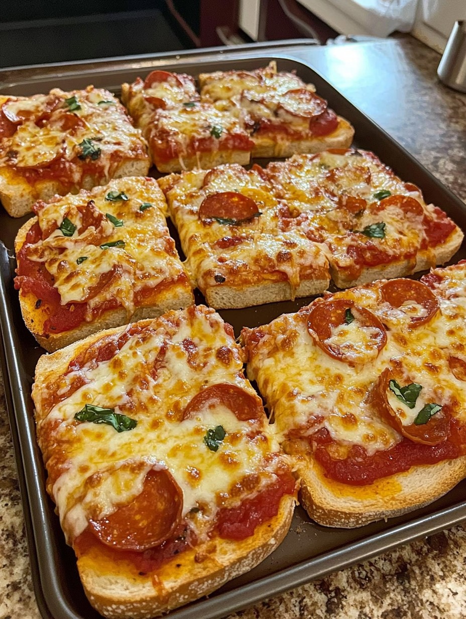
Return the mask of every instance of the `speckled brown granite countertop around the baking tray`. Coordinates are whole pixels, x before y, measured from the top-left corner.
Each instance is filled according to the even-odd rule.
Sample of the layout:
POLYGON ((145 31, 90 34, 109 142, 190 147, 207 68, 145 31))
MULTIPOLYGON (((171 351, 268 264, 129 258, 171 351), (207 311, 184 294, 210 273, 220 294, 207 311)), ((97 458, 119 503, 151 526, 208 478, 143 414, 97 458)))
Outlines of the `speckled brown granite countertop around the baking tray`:
MULTIPOLYGON (((309 48, 308 54, 340 92, 466 199, 466 95, 438 83, 439 54, 411 37, 309 48)), ((39 619, 1 383, 0 454, 0 619, 39 619)), ((233 617, 466 617, 466 528, 404 545, 233 617)))

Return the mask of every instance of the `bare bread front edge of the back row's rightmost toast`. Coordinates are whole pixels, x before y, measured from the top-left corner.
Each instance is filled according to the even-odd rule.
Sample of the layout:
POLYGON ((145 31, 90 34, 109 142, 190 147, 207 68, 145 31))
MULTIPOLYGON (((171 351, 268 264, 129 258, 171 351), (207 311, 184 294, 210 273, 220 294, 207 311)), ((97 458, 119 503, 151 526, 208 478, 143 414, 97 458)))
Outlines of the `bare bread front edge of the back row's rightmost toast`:
POLYGON ((270 137, 253 135, 254 149, 251 157, 291 157, 300 153, 319 153, 327 149, 347 149, 353 141, 355 130, 341 116, 338 119, 338 127, 327 136, 290 140, 286 134, 283 134, 283 137, 276 133, 270 137))

